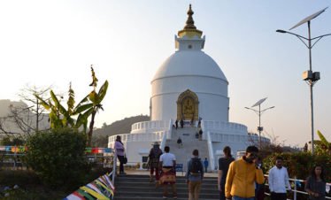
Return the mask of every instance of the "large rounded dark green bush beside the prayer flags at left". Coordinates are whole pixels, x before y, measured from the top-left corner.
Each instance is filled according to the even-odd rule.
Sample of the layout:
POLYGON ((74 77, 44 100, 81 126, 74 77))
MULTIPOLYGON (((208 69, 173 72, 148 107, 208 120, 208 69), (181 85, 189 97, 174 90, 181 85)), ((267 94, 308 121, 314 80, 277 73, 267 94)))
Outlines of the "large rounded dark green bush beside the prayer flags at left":
POLYGON ((37 133, 27 141, 27 165, 53 188, 83 183, 89 171, 85 156, 86 138, 71 128, 37 133))

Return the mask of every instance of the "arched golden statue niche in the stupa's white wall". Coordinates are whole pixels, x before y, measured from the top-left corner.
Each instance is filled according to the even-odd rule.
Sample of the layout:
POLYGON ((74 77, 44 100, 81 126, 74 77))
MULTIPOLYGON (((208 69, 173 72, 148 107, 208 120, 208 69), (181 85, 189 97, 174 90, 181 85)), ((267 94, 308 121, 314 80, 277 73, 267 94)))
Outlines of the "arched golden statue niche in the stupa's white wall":
POLYGON ((196 93, 189 89, 181 93, 177 100, 177 119, 197 120, 199 116, 198 104, 196 93))

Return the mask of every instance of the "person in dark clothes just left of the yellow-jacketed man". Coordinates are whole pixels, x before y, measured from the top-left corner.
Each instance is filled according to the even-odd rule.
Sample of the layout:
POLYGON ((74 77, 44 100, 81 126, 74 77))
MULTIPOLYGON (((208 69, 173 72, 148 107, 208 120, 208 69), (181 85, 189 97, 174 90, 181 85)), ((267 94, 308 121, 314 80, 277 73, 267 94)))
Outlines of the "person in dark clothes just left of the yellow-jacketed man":
POLYGON ((225 186, 227 181, 227 170, 230 163, 235 161, 235 158, 231 155, 231 148, 225 146, 223 149, 224 158, 219 158, 219 175, 218 175, 218 186, 219 186, 219 199, 225 200, 225 186))

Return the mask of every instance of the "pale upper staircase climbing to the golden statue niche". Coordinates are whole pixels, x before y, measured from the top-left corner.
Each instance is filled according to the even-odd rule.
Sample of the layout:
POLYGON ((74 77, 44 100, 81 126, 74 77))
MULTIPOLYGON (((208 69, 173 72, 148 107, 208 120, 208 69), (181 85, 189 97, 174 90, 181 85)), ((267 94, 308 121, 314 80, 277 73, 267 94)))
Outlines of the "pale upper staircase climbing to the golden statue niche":
MULTIPOLYGON (((170 147, 170 152, 176 157, 177 164, 183 164, 183 169, 186 171, 189 158, 192 158, 192 151, 199 150, 199 158, 209 158, 207 141, 196 139, 196 127, 179 127, 177 130, 173 128, 172 139, 166 140, 166 146, 170 147), (183 143, 179 148, 177 144, 178 137, 181 137, 183 143)), ((210 165, 208 166, 210 171, 210 165)))

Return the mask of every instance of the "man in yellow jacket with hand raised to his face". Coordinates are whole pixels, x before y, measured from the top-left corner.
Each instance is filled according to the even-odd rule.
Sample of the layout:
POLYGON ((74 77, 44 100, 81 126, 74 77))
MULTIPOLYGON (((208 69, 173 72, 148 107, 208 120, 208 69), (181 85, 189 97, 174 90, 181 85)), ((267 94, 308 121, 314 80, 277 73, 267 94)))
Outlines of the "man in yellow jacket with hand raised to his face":
POLYGON ((232 162, 228 168, 226 181, 227 200, 254 200, 255 182, 265 181, 260 165, 256 164, 258 148, 249 146, 245 156, 232 162))

